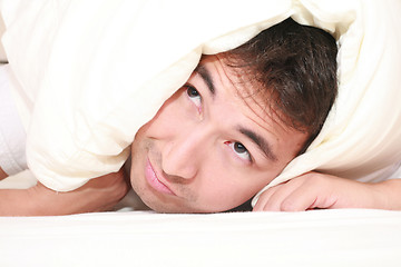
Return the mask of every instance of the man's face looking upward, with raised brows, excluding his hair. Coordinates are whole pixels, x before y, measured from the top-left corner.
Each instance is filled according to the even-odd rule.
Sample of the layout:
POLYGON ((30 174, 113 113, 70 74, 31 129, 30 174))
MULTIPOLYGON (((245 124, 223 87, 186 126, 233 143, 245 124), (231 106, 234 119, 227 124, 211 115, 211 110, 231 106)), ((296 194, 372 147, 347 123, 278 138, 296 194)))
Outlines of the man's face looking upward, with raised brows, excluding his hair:
POLYGON ((252 198, 301 149, 296 131, 238 93, 222 56, 204 57, 133 142, 131 184, 160 212, 215 212, 252 198))

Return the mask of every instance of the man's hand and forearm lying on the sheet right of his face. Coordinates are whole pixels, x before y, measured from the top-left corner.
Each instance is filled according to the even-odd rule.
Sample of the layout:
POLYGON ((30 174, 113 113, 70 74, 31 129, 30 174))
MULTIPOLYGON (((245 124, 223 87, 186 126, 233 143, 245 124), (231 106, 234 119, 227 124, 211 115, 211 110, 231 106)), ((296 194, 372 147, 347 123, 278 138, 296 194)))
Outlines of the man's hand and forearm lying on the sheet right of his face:
POLYGON ((312 171, 268 188, 253 210, 314 208, 401 209, 401 180, 368 184, 312 171))

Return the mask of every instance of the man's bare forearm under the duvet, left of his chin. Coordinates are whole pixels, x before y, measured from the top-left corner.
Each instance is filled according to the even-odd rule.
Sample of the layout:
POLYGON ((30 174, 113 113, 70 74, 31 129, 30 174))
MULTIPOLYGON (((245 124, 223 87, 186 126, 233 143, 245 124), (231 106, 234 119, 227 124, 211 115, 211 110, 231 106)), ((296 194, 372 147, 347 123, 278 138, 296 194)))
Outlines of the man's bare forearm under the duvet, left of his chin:
POLYGON ((0 216, 47 216, 104 211, 114 207, 130 186, 123 170, 89 180, 69 192, 57 192, 40 182, 29 189, 1 189, 0 216))

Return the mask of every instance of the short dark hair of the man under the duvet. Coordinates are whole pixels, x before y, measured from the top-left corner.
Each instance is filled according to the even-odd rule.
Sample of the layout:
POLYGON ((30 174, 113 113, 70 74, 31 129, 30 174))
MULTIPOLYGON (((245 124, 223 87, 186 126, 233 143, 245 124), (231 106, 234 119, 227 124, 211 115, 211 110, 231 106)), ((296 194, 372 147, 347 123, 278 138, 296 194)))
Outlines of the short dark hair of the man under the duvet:
POLYGON ((256 82, 247 92, 257 93, 284 123, 310 135, 306 149, 338 93, 336 52, 330 33, 290 18, 226 56, 229 67, 246 71, 241 76, 246 77, 245 82, 256 82))

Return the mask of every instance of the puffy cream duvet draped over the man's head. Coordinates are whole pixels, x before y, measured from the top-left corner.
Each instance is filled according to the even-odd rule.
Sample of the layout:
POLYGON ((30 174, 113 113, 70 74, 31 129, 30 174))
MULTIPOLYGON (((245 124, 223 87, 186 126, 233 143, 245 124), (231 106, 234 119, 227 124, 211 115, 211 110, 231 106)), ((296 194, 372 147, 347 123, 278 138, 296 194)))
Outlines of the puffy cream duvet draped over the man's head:
POLYGON ((307 152, 271 185, 312 169, 356 179, 401 159, 398 0, 2 0, 1 10, 21 98, 35 102, 29 167, 52 189, 117 170, 202 53, 290 16, 338 38, 340 95, 307 152))

